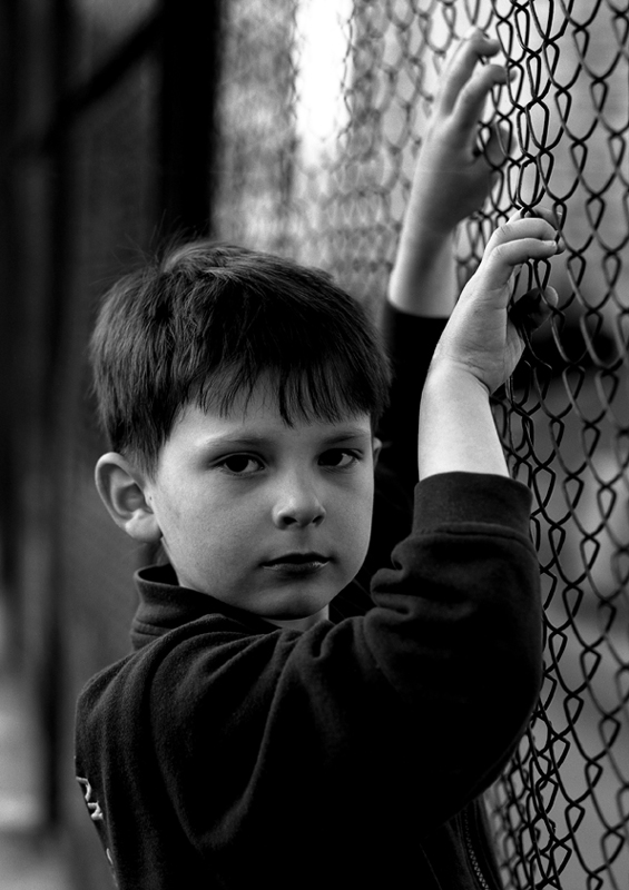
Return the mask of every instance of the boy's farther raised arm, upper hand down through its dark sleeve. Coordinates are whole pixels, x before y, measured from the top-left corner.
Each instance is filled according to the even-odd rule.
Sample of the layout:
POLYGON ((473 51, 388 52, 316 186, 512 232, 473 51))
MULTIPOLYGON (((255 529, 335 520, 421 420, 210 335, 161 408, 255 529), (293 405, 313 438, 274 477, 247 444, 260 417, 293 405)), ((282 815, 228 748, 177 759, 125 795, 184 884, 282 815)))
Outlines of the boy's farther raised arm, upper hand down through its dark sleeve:
POLYGON ((476 150, 479 120, 488 93, 507 80, 502 66, 481 60, 497 40, 474 30, 446 63, 419 154, 397 256, 382 316, 393 363, 391 404, 379 428, 389 466, 411 493, 417 481, 420 398, 434 347, 459 287, 453 254, 456 225, 487 198, 504 160, 498 128, 485 154, 476 150))

